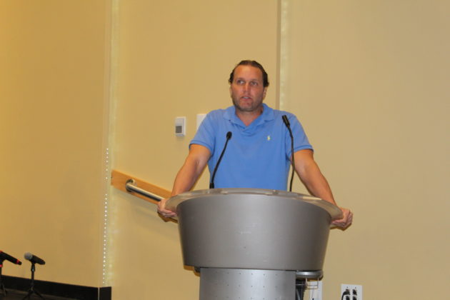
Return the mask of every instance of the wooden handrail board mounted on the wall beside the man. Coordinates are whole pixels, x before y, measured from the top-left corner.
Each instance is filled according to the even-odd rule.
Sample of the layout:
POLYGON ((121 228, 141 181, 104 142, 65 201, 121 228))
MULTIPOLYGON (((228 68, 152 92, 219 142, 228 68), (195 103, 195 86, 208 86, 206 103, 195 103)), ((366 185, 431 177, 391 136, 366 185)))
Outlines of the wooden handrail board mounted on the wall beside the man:
POLYGON ((171 191, 163 189, 159 186, 155 186, 154 184, 149 184, 148 182, 143 181, 141 179, 137 179, 129 174, 125 174, 125 173, 123 173, 121 171, 117 171, 117 170, 111 171, 111 185, 114 186, 116 189, 119 189, 119 190, 124 191, 129 194, 132 194, 133 196, 139 197, 139 198, 149 201, 151 203, 154 203, 154 204, 158 203, 158 201, 156 201, 154 199, 150 199, 149 197, 146 197, 146 196, 136 193, 134 191, 127 190, 126 184, 130 181, 130 179, 132 179, 134 181, 134 185, 138 186, 140 189, 149 191, 151 194, 161 196, 162 198, 169 198, 171 195, 171 191))

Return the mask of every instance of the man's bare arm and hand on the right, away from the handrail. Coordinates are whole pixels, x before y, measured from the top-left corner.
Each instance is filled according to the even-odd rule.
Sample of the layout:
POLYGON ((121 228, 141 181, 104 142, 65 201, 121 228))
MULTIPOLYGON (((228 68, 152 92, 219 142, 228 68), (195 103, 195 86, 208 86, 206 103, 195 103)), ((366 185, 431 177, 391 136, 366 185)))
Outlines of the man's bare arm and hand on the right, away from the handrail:
MULTIPOLYGON (((314 161, 313 151, 310 149, 304 149, 296 151, 294 153, 295 159, 295 171, 299 175, 301 182, 306 186, 311 195, 329 201, 331 204, 336 205, 334 201, 331 188, 326 181, 324 175, 322 175, 319 166, 314 161)), ((340 208, 344 215, 342 219, 333 221, 332 224, 346 228, 353 220, 353 214, 349 209, 340 208)))

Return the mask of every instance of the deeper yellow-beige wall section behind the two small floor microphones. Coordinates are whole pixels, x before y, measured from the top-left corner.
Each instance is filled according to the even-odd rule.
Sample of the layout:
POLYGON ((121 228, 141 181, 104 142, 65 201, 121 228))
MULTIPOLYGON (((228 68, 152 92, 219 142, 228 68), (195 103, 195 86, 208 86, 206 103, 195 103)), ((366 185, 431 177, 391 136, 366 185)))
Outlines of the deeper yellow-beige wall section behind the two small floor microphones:
POLYGON ((106 7, 0 2, 0 249, 40 280, 101 285, 106 7))

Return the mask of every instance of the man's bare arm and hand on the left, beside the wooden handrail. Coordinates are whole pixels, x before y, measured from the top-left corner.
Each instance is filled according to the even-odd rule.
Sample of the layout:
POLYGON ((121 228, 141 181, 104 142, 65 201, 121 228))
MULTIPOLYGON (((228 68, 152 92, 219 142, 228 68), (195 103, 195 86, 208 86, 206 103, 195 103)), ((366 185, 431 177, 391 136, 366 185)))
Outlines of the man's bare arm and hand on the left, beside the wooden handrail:
MULTIPOLYGON (((191 144, 186 161, 184 161, 183 166, 181 166, 178 174, 176 174, 171 196, 181 194, 184 191, 189 191, 192 186, 194 186, 195 182, 199 179, 199 176, 205 169, 210 156, 211 152, 205 146, 191 144)), ((169 211, 165 208, 166 201, 167 199, 159 201, 159 214, 169 218, 176 216, 174 211, 169 211)))

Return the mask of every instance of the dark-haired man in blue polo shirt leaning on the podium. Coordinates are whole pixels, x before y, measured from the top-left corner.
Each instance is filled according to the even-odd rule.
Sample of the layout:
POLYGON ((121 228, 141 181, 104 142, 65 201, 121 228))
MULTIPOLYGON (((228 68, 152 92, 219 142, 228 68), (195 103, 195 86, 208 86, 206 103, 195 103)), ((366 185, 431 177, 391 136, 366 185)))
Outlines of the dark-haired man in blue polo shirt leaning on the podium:
MULTIPOLYGON (((292 155, 289 131, 281 118, 286 115, 294 134, 296 173, 312 195, 336 205, 299 121, 293 114, 263 104, 269 86, 263 66, 256 61, 241 61, 231 71, 229 84, 234 106, 211 111, 206 116, 176 175, 172 196, 189 191, 206 164, 212 174, 229 131, 232 138, 217 170, 215 187, 286 190, 292 155)), ((159 202, 159 214, 176 216, 174 211, 165 209, 165 205, 166 199, 159 202)), ((333 224, 346 228, 353 214, 349 209, 341 210, 343 218, 333 224)))

